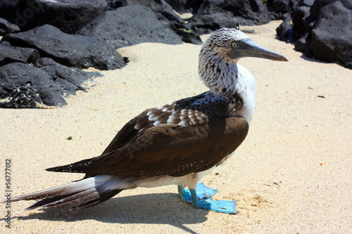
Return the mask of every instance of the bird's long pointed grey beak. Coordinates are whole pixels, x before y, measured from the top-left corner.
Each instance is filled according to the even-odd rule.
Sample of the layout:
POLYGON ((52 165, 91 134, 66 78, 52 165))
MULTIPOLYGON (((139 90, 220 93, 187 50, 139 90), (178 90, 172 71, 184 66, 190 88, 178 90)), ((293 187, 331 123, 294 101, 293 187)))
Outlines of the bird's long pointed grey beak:
POLYGON ((232 48, 231 51, 227 52, 227 55, 232 58, 256 57, 275 61, 288 61, 287 58, 284 58, 284 56, 279 53, 275 53, 258 46, 249 38, 237 41, 237 47, 232 48))

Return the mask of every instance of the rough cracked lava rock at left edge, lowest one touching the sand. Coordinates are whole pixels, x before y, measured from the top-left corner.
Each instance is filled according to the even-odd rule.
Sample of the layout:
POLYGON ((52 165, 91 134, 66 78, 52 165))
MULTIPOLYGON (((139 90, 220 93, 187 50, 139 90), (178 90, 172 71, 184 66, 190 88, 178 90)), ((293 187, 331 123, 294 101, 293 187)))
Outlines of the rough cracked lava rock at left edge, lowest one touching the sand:
POLYGON ((51 58, 39 58, 35 67, 24 63, 9 63, 0 67, 0 108, 37 108, 67 105, 65 97, 76 91, 99 72, 83 72, 66 67, 51 58))

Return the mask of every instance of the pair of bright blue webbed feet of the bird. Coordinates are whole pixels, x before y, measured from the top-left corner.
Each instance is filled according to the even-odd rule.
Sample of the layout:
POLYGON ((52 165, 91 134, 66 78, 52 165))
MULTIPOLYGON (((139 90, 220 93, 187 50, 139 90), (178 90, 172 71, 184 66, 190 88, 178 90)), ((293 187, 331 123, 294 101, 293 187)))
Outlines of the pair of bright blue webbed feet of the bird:
POLYGON ((217 191, 218 190, 204 186, 203 183, 199 183, 195 190, 184 189, 183 186, 178 186, 178 193, 181 199, 191 203, 196 208, 209 209, 227 214, 237 214, 235 208, 236 200, 211 200, 211 197, 215 195, 217 191))

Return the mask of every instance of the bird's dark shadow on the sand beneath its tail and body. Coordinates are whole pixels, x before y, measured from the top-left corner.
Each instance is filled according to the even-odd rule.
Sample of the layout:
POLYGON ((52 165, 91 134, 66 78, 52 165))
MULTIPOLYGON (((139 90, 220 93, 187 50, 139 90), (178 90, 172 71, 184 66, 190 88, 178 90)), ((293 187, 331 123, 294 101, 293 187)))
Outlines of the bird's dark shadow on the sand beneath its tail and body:
MULTIPOLYGON (((42 209, 18 220, 84 221, 94 219, 103 223, 157 223, 168 224, 188 233, 196 233, 184 224, 203 223, 209 211, 194 209, 175 193, 154 193, 115 197, 88 209, 42 209)), ((25 214, 25 213, 23 213, 25 214)))

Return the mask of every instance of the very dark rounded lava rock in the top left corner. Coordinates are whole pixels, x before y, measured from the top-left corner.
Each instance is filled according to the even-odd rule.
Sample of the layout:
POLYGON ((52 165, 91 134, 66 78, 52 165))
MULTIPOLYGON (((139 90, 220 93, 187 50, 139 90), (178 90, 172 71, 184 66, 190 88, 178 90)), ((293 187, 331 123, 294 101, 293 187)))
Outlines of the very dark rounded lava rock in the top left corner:
POLYGON ((49 24, 70 34, 106 11, 108 5, 106 0, 20 0, 17 2, 17 4, 13 3, 15 6, 13 15, 1 16, 18 25, 21 30, 49 24))

